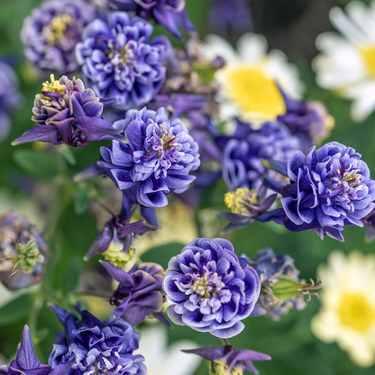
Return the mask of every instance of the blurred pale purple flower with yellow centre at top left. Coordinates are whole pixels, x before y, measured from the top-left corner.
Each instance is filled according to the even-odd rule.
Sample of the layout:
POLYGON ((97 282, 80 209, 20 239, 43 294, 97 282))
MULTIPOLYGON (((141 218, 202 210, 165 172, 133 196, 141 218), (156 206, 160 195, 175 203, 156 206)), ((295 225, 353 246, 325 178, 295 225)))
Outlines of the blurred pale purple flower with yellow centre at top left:
POLYGON ((25 18, 21 38, 27 60, 38 70, 75 72, 75 45, 94 19, 94 7, 83 0, 47 0, 25 18))

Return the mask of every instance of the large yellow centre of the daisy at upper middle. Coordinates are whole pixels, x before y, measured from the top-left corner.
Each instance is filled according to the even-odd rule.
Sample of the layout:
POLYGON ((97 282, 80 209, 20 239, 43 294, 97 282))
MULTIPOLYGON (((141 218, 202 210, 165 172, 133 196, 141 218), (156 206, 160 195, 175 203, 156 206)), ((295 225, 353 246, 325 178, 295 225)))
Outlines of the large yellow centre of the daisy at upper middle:
POLYGON ((242 117, 255 120, 274 120, 284 115, 286 106, 276 82, 267 77, 260 68, 248 65, 223 68, 229 99, 239 106, 242 117))

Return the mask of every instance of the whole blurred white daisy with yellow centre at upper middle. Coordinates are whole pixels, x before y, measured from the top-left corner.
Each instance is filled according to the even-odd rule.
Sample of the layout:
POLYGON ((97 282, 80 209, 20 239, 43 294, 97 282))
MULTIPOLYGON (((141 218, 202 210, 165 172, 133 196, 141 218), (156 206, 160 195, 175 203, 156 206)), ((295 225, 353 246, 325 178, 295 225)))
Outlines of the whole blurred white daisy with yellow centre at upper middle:
POLYGON ((221 56, 226 62, 215 74, 220 83, 217 101, 222 119, 265 122, 283 115, 286 106, 279 87, 292 98, 300 98, 303 84, 298 69, 288 63, 283 52, 267 53, 267 41, 261 35, 243 34, 236 50, 217 35, 205 40, 205 55, 210 59, 221 56))

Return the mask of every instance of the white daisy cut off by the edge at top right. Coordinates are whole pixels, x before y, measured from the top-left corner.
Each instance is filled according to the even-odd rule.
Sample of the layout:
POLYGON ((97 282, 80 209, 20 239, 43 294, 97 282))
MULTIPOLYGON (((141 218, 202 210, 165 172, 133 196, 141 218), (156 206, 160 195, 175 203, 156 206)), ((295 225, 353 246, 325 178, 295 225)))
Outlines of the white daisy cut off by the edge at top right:
POLYGON ((366 5, 352 1, 329 12, 332 25, 341 32, 324 32, 317 37, 312 68, 317 83, 352 99, 352 119, 362 121, 375 110, 375 1, 366 5))

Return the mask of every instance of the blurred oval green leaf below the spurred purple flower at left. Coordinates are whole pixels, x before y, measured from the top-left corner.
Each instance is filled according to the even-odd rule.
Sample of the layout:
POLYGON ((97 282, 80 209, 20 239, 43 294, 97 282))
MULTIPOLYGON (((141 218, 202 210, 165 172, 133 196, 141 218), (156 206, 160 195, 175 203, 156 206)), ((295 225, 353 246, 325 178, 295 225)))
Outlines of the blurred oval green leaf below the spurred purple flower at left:
POLYGON ((46 155, 32 150, 16 150, 13 160, 27 174, 37 179, 51 179, 58 174, 58 165, 54 155, 46 155))

